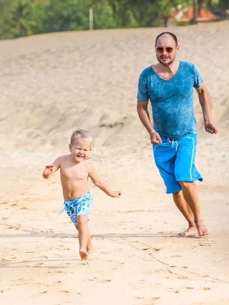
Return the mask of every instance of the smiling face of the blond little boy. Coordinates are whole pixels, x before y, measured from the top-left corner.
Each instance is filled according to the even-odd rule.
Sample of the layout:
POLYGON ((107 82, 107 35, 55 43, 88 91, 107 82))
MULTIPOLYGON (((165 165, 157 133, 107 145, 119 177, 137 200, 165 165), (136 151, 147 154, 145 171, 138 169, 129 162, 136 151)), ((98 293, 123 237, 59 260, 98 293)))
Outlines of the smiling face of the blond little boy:
POLYGON ((73 144, 69 144, 69 150, 71 157, 76 162, 81 162, 88 158, 92 142, 87 139, 77 138, 73 144))

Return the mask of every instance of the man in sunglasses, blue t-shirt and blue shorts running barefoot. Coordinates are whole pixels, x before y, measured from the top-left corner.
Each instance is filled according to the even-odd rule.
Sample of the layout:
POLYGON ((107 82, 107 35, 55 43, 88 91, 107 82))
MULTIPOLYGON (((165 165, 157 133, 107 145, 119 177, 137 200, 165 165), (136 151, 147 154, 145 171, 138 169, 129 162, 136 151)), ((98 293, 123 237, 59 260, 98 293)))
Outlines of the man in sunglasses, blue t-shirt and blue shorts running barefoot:
POLYGON ((211 99, 198 69, 191 63, 175 60, 179 50, 177 37, 163 32, 156 38, 158 64, 146 68, 139 77, 137 112, 150 134, 154 159, 164 180, 166 193, 188 221, 180 236, 208 235, 204 225, 195 180, 202 181, 194 165, 196 121, 193 111, 193 87, 198 93, 205 130, 216 134, 211 116, 211 99), (148 100, 153 111, 150 123, 148 100))

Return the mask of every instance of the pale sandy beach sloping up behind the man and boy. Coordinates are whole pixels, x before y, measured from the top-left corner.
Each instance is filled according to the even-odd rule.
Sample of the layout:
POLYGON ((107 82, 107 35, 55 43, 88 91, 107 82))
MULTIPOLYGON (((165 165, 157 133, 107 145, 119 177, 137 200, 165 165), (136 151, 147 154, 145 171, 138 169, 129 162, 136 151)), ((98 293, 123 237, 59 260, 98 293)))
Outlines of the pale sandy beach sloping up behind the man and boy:
MULTIPOLYGON (((201 71, 217 135, 194 93, 197 182, 207 237, 177 237, 187 223, 154 163, 136 112, 139 74, 156 63, 168 28, 68 32, 0 41, 0 302, 3 305, 229 304, 229 21, 169 28, 178 59, 201 71), (60 173, 76 128, 94 136, 90 161, 121 198, 90 181, 96 251, 78 255, 60 173)), ((151 111, 151 109, 150 109, 151 111)))

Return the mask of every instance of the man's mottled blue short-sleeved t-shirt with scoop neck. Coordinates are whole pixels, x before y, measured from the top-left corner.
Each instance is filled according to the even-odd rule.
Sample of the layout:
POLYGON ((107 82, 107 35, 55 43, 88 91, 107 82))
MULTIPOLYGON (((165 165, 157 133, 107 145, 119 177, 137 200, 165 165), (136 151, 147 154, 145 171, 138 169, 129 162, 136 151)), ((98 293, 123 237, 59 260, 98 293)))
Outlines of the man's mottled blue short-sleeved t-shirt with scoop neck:
POLYGON ((173 78, 164 80, 146 68, 139 77, 137 99, 150 99, 154 129, 163 138, 180 139, 196 134, 193 110, 193 87, 201 86, 203 78, 194 64, 180 61, 173 78))

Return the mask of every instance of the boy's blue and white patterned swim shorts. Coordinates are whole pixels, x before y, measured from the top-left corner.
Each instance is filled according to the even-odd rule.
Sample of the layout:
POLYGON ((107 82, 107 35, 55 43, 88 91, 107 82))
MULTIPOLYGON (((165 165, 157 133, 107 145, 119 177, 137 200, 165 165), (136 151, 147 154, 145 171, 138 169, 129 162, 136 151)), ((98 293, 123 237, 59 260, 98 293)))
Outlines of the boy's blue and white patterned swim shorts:
POLYGON ((68 216, 70 217, 73 224, 77 225, 77 216, 78 215, 85 215, 88 217, 91 214, 91 207, 92 207, 92 194, 89 191, 88 193, 82 195, 79 198, 74 200, 64 200, 64 208, 60 212, 60 214, 66 210, 68 216))

